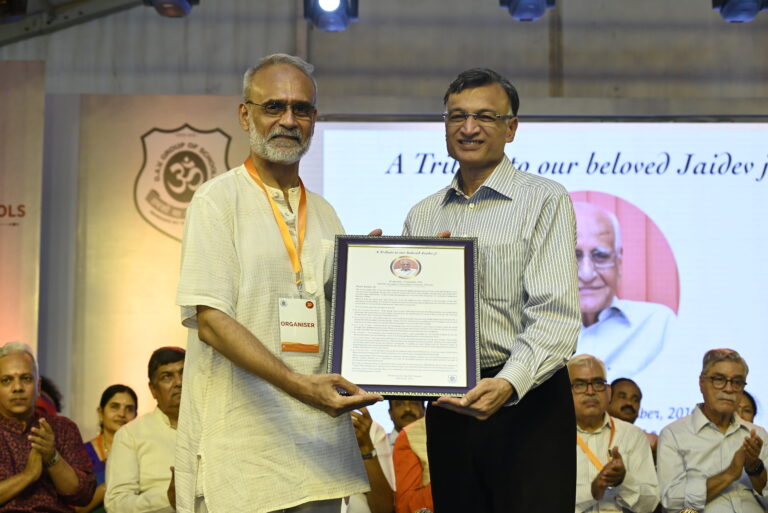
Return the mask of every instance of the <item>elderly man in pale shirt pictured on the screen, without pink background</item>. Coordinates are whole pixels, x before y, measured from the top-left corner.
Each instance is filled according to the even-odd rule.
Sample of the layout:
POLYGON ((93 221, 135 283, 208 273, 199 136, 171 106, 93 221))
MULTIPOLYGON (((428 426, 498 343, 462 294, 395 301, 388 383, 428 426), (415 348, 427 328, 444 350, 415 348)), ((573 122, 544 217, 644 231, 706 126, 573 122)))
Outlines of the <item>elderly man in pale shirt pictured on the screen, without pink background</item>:
POLYGON ((664 347, 675 314, 662 304, 618 297, 624 258, 618 219, 591 203, 573 207, 583 324, 577 352, 598 356, 610 376, 634 376, 664 347))

